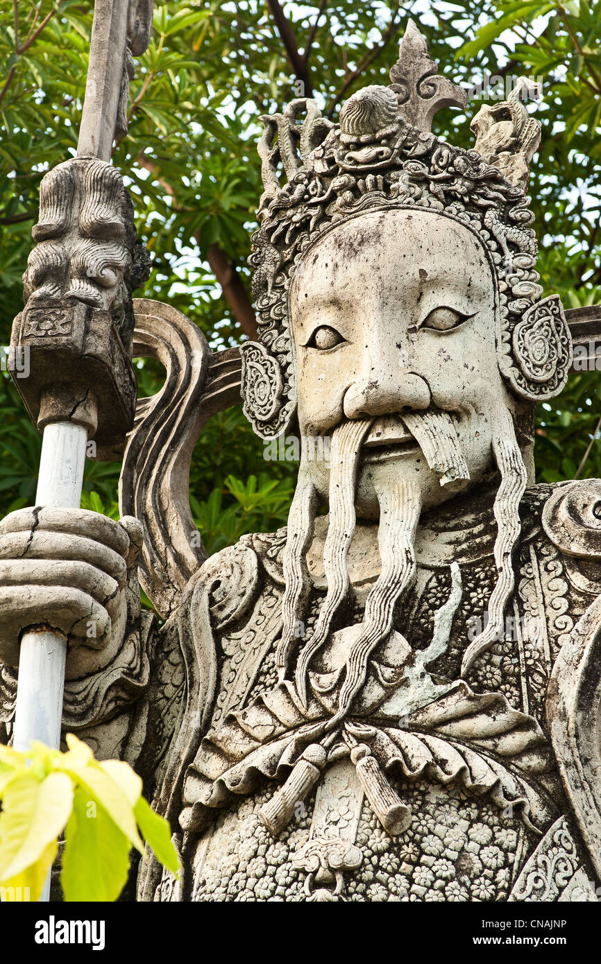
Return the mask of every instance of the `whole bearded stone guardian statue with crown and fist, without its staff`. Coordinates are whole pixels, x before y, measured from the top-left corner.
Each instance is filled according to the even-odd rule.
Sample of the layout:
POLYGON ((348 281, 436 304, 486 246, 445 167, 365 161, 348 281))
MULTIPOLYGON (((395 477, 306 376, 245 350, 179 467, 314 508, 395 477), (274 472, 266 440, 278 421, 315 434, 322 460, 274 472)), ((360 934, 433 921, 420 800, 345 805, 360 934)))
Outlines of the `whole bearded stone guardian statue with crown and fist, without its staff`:
MULTIPOLYGON (((18 632, 49 622, 65 729, 172 823, 181 877, 145 859, 138 899, 595 899, 601 485, 534 484, 534 405, 572 362, 524 193, 535 92, 483 107, 464 150, 430 132, 465 95, 413 24, 391 79, 338 123, 305 99, 263 119, 257 343, 212 355, 134 300, 134 353, 168 375, 138 405, 123 521, 1 523, 6 736, 18 632), (240 354, 245 414, 300 439, 298 483, 287 528, 206 559, 190 457, 240 354)), ((102 256, 123 292, 123 243, 102 256)))

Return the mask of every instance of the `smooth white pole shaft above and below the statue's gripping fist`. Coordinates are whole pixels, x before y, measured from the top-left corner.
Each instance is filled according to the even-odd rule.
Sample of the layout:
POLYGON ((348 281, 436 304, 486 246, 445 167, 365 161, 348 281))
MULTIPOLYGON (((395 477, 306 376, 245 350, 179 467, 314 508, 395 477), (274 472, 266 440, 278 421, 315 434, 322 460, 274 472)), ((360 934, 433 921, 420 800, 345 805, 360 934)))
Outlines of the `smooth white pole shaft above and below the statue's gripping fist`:
MULTIPOLYGON (((78 508, 86 464, 88 431, 72 422, 52 422, 43 430, 36 505, 78 508)), ((58 750, 61 745, 67 637, 51 629, 29 629, 21 638, 14 711, 15 750, 32 739, 58 750)), ((41 901, 50 898, 50 875, 41 901)))

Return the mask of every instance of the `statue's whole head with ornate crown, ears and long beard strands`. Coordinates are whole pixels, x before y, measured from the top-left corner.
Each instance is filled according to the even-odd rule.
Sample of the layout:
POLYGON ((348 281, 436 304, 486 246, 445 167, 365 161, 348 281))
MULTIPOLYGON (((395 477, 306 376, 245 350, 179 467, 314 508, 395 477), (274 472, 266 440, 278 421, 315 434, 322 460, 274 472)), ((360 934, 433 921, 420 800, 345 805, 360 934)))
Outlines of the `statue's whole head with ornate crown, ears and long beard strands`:
MULTIPOLYGON (((299 658, 301 690, 348 592, 351 516, 379 517, 378 583, 385 577, 396 587, 392 605, 378 583, 371 605, 369 597, 357 646, 365 654, 390 631, 394 603, 415 575, 400 558, 420 513, 498 470, 499 582, 466 665, 490 645, 513 586, 519 500, 533 480, 534 405, 560 392, 571 363, 560 300, 543 298, 538 283, 524 194, 538 126, 532 121, 522 145, 528 125, 519 111, 528 114, 511 102, 511 130, 507 112, 496 137, 493 120, 473 126, 485 129, 484 156, 478 141, 464 150, 437 140, 429 129, 436 110, 465 106, 465 95, 435 73, 410 23, 393 84, 353 94, 338 124, 306 100, 263 119, 265 192, 251 255, 260 333, 242 346, 243 396, 261 438, 301 439, 282 672, 305 597, 315 506, 330 506, 328 597, 299 658), (315 448, 315 439, 329 444, 315 448)), ((355 656, 347 705, 365 675, 367 656, 355 656)))

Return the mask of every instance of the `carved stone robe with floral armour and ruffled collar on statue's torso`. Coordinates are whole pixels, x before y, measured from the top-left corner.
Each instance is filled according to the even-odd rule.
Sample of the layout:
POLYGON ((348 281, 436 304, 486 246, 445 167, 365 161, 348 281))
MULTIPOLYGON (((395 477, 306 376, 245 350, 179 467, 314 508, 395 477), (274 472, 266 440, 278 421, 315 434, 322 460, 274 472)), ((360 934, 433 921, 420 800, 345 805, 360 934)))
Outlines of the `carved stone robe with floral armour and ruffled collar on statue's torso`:
MULTIPOLYGON (((285 529, 212 556, 176 617, 157 629, 147 616, 112 666, 68 683, 66 728, 101 756, 132 763, 172 820, 181 882, 143 863, 138 899, 591 899, 595 870, 545 715, 553 667, 601 588, 590 540, 580 549, 571 540, 580 555, 561 548, 563 494, 582 486, 591 483, 526 493, 505 639, 465 680, 461 657, 497 576, 494 488, 423 517, 418 576, 396 631, 373 654, 362 693, 329 741, 344 633, 361 622, 377 576, 374 528, 358 526, 349 560, 355 601, 343 613, 346 629, 315 660, 306 706, 291 684, 278 684, 274 661, 285 529), (431 660, 420 654, 451 598, 451 562, 460 598, 445 651, 431 660), (325 753, 312 756, 319 740, 325 753), (295 767, 298 798, 294 785, 285 800, 295 767), (388 790, 400 806, 387 811, 388 790)), ((318 551, 309 565, 306 638, 325 595, 318 551)), ((4 674, 8 720, 14 681, 4 674)))

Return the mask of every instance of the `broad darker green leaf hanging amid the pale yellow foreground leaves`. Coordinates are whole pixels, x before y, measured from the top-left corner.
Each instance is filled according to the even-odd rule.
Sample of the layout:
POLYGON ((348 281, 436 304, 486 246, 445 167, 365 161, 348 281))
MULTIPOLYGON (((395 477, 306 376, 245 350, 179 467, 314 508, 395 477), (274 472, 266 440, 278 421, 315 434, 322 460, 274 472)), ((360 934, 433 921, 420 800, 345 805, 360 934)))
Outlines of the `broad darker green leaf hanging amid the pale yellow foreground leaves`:
POLYGON ((62 860, 65 900, 116 900, 127 882, 130 849, 104 807, 87 790, 77 788, 62 860))

